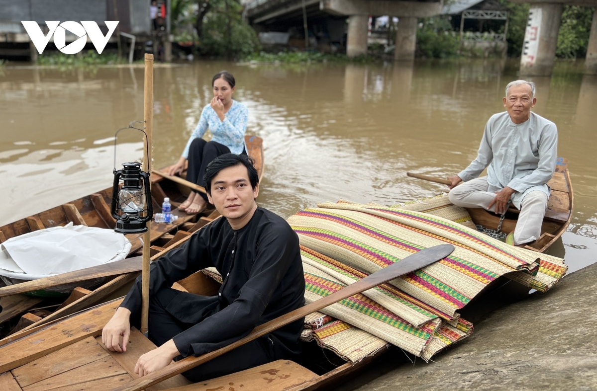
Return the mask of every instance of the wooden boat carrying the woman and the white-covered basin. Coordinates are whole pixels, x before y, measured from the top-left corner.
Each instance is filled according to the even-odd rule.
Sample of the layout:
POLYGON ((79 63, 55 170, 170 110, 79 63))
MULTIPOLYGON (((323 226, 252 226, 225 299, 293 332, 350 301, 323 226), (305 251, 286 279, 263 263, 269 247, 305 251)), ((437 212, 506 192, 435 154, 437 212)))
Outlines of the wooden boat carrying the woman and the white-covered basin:
MULTIPOLYGON (((247 144, 248 155, 253 158, 257 172, 259 172, 260 178, 263 178, 263 140, 258 136, 251 135, 245 136, 245 143, 247 144)), ((152 182, 153 210, 161 210, 161 204, 164 201, 164 197, 170 197, 171 203, 173 204, 173 214, 179 218, 173 224, 151 225, 152 255, 157 255, 158 253, 164 251, 165 248, 171 247, 171 245, 179 242, 182 238, 190 235, 192 232, 195 232, 197 229, 201 228, 201 226, 219 216, 219 213, 217 213, 215 210, 204 213, 203 216, 191 216, 187 215, 187 213, 184 211, 177 209, 177 206, 186 200, 186 197, 190 191, 187 187, 189 184, 185 184, 186 181, 183 179, 185 177, 185 173, 183 173, 183 178, 179 178, 178 176, 165 178, 167 175, 165 175, 163 172, 162 174, 164 176, 159 175, 156 172, 161 171, 155 170, 152 175, 150 175, 150 180, 152 182)), ((97 193, 90 194, 89 196, 79 198, 78 200, 70 201, 69 203, 65 203, 61 206, 53 207, 44 212, 37 213, 19 221, 4 225, 0 227, 0 243, 8 240, 9 238, 26 234, 27 232, 50 228, 53 226, 64 226, 69 222, 73 222, 75 225, 113 229, 115 226, 115 220, 110 215, 109 204, 111 203, 111 199, 112 188, 110 187, 97 193)), ((133 244, 129 257, 140 256, 142 244, 139 235, 127 235, 127 238, 133 244)), ((136 270, 138 272, 141 270, 140 261, 137 262, 137 264, 139 265, 136 270)), ((4 295, 0 294, 0 297, 2 297, 0 300, 0 305, 4 308, 2 312, 0 312, 0 324, 8 321, 16 315, 20 315, 23 312, 28 311, 34 306, 45 307, 47 305, 54 305, 53 309, 59 309, 60 311, 58 314, 51 315, 50 319, 57 318, 57 316, 69 315, 72 314, 73 311, 85 309, 90 305, 98 303, 113 291, 118 290, 122 286, 125 286, 134 280, 137 273, 134 270, 128 270, 129 271, 127 273, 120 273, 118 270, 114 271, 111 275, 121 275, 113 280, 108 281, 99 289, 94 290, 91 296, 89 296, 89 294, 92 293, 92 291, 87 289, 90 288, 90 286, 85 286, 83 281, 79 283, 84 285, 83 287, 78 287, 77 284, 73 285, 71 288, 76 288, 73 290, 71 296, 66 299, 66 302, 61 304, 59 302, 59 305, 56 305, 57 299, 48 299, 44 302, 44 297, 57 296, 55 293, 53 293, 53 291, 41 290, 41 288, 44 288, 44 283, 39 283, 39 289, 34 290, 33 294, 29 292, 28 296, 23 296, 23 294, 13 294, 11 296, 2 297, 4 295), (71 305, 73 302, 76 302, 74 307, 64 309, 64 307, 71 305)), ((106 276, 110 276, 110 274, 104 273, 104 275, 100 277, 98 277, 97 274, 89 275, 88 280, 96 280, 97 278, 104 278, 106 276)), ((0 288, 0 290, 1 289, 2 288, 0 288)), ((64 300, 65 298, 66 297, 63 297, 61 300, 64 300)), ((50 312, 47 311, 47 309, 37 312, 36 314, 25 314, 24 318, 21 319, 20 324, 17 324, 16 326, 11 324, 10 327, 4 327, 4 329, 10 328, 11 330, 17 331, 40 321, 41 316, 49 314, 50 312)), ((6 334, 11 330, 2 330, 2 333, 6 334)))

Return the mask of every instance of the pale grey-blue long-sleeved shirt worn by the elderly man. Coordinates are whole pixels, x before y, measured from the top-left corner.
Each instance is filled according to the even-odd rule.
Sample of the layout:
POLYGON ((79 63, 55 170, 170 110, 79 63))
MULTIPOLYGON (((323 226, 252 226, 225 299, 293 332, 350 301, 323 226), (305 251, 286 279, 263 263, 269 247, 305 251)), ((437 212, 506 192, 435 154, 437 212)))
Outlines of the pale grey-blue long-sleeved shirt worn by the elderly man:
POLYGON ((516 124, 506 112, 491 116, 485 125, 477 158, 458 173, 464 182, 477 178, 485 167, 491 193, 510 187, 512 203, 520 209, 522 199, 540 190, 549 197, 558 157, 558 129, 555 123, 533 112, 516 124))

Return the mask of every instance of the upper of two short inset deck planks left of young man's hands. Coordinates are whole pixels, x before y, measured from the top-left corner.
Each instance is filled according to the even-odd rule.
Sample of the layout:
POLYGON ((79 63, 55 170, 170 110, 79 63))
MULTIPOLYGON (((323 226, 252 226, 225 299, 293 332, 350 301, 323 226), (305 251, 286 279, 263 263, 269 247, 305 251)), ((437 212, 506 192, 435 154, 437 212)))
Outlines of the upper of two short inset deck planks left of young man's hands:
POLYGON ((87 337, 11 372, 21 387, 27 387, 106 357, 106 350, 93 337, 87 337))

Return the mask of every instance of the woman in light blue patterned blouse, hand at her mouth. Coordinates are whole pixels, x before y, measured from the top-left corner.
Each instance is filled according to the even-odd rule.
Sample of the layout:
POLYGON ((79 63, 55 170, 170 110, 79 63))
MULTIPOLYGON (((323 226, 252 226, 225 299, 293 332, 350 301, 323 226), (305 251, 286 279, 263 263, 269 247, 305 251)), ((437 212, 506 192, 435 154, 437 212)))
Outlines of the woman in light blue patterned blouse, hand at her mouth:
MULTIPOLYGON (((224 153, 246 153, 245 131, 247 130, 248 110, 244 104, 232 99, 235 91, 235 79, 230 72, 223 70, 211 80, 214 98, 206 105, 199 118, 195 131, 190 135, 179 161, 168 167, 168 174, 175 175, 184 170, 184 163, 189 160, 187 181, 205 187, 203 175, 205 167, 216 157, 224 153), (202 139, 210 129, 211 141, 202 139)), ((189 197, 180 204, 180 210, 189 215, 196 215, 207 207, 207 195, 191 191, 189 197)))

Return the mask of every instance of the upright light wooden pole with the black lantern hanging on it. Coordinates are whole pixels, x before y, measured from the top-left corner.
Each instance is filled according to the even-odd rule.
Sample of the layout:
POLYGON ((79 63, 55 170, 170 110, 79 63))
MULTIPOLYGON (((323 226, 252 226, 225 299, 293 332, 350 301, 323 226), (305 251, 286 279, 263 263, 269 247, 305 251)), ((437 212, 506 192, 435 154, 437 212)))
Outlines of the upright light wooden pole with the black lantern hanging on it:
MULTIPOLYGON (((152 150, 153 126, 153 54, 145 54, 145 88, 143 99, 144 130, 147 134, 147 143, 143 144, 143 171, 149 172, 152 150)), ((150 181, 151 186, 151 181, 150 181)), ((149 188, 151 191, 151 187, 149 188)), ((151 221, 147 222, 147 232, 143 234, 143 277, 141 293, 143 306, 141 307, 141 333, 147 334, 147 318, 149 317, 149 262, 151 251, 151 221)))

